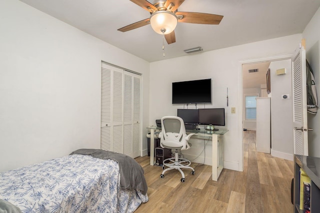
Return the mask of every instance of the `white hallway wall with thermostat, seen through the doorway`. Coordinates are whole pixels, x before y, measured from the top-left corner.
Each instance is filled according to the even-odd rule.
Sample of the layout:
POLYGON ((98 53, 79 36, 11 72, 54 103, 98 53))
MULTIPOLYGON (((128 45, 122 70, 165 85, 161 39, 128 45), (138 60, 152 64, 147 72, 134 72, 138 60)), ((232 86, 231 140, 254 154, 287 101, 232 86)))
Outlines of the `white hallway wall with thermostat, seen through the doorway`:
POLYGON ((291 60, 272 61, 269 69, 271 81, 271 155, 292 160, 291 60), (276 75, 276 70, 282 68, 285 68, 286 74, 276 75), (288 94, 289 98, 282 99, 283 94, 288 94))

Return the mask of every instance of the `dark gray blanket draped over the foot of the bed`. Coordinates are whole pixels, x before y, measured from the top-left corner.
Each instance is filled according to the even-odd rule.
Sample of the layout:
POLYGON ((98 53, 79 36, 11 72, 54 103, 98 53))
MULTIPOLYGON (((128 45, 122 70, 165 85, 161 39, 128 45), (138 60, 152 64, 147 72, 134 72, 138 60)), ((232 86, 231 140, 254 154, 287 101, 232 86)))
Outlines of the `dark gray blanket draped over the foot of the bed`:
POLYGON ((93 158, 103 160, 113 160, 119 165, 120 188, 128 190, 140 190, 143 195, 146 194, 147 185, 144 179, 144 171, 142 167, 131 157, 99 149, 79 149, 70 155, 90 155, 93 158))

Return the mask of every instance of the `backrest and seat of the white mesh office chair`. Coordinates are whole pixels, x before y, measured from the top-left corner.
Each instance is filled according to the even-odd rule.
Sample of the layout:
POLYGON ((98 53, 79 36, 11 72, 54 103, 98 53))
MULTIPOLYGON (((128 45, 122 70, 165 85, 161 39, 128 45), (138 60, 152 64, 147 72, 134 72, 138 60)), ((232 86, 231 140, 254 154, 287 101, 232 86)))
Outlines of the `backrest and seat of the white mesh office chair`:
POLYGON ((165 116, 161 119, 161 147, 178 148, 181 150, 189 149, 190 147, 185 138, 186 133, 182 118, 165 116))

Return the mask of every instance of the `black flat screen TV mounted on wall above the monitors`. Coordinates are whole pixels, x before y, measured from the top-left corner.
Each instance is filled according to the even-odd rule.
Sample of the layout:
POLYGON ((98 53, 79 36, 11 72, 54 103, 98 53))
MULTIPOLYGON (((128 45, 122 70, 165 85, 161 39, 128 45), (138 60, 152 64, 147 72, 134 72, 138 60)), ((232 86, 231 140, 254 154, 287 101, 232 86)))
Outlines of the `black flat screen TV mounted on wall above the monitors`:
POLYGON ((211 103, 211 79, 172 83, 172 104, 211 103))

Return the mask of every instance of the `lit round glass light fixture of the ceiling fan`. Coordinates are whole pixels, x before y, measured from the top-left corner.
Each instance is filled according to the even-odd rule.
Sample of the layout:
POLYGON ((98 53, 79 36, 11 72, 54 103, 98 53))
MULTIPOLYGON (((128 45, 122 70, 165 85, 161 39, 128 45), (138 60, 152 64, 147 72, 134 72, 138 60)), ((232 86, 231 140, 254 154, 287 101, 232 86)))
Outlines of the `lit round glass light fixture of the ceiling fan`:
POLYGON ((166 10, 158 10, 150 16, 152 29, 161 35, 171 33, 176 27, 177 22, 176 15, 166 10))

